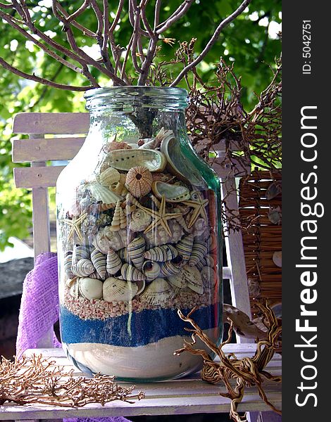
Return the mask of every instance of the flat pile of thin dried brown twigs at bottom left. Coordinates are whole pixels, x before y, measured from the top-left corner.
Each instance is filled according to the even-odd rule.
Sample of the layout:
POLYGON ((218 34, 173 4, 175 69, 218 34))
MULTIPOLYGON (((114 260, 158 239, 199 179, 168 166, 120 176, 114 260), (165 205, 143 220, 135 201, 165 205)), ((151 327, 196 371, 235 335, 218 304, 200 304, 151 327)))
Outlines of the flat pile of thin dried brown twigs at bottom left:
POLYGON ((124 388, 116 384, 113 376, 74 377, 73 370, 65 371, 41 354, 23 355, 14 362, 3 357, 0 362, 0 405, 82 407, 89 403, 104 406, 114 400, 133 403, 132 400, 144 398, 142 391, 132 394, 134 388, 134 385, 124 388))

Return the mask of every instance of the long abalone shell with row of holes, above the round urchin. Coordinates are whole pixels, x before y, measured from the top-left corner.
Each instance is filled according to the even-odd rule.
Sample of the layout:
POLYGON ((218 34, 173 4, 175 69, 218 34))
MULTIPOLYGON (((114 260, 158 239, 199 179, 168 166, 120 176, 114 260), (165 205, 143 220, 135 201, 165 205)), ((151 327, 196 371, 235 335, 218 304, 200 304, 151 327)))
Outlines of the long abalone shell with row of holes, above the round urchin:
POLYGON ((150 172, 162 172, 167 160, 160 151, 136 149, 111 151, 108 154, 108 162, 111 167, 118 170, 129 171, 131 167, 142 165, 150 172))

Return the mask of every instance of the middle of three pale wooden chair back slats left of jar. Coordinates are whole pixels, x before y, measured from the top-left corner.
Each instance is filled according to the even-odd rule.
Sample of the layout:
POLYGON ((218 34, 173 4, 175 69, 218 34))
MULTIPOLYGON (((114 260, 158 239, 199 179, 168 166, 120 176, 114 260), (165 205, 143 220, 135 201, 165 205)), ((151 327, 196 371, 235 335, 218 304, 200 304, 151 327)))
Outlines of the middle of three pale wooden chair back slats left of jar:
POLYGON ((13 162, 72 160, 84 141, 85 137, 13 139, 13 162))

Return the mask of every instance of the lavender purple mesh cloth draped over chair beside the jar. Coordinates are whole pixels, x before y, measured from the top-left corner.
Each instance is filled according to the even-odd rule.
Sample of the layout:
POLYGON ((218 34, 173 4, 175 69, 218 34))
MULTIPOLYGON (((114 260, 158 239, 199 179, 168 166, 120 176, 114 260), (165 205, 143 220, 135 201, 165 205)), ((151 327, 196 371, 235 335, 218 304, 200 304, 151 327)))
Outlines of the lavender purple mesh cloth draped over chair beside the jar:
MULTIPOLYGON (((20 315, 18 316, 18 336, 16 354, 37 347, 49 330, 58 321, 58 261, 56 253, 38 255, 35 267, 25 277, 23 283, 20 315)), ((61 347, 53 331, 54 347, 61 347)), ((63 419, 63 422, 130 422, 122 416, 113 418, 63 419)))

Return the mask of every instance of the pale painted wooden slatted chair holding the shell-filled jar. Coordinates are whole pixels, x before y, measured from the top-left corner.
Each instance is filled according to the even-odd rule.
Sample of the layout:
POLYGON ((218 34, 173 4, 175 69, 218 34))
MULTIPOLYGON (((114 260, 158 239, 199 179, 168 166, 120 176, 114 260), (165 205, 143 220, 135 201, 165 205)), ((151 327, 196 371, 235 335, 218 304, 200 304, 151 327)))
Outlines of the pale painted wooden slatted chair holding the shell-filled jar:
MULTIPOLYGON (((29 139, 13 140, 13 162, 30 162, 30 167, 14 169, 15 185, 18 188, 32 189, 33 201, 33 236, 35 255, 50 250, 49 237, 49 206, 48 188, 55 186, 58 174, 63 166, 48 166, 46 162, 55 160, 70 160, 82 143, 89 127, 88 113, 20 113, 15 116, 13 132, 15 134, 28 134, 29 139), (49 138, 48 135, 52 135, 49 138), (47 138, 45 137, 47 135, 47 138), (61 135, 61 137, 56 137, 61 135), (62 137, 66 135, 67 137, 62 137), (75 135, 75 137, 74 137, 75 135)), ((224 148, 222 144, 217 146, 219 160, 222 159, 224 148)), ((219 167, 219 166, 218 166, 219 167)), ((227 163, 219 167, 218 174, 225 183, 223 196, 227 196, 227 205, 231 209, 237 209, 237 196, 233 187, 235 178, 228 178, 229 169, 227 163)), ((232 303, 246 314, 250 314, 249 293, 246 285, 246 270, 244 264, 244 251, 242 236, 239 233, 230 234, 226 239, 228 267, 223 268, 223 277, 230 279, 232 303)), ((46 336, 39 343, 40 349, 46 356, 54 357, 61 365, 71 366, 62 350, 51 349, 51 335, 46 336)), ((256 345, 230 344, 227 352, 235 352, 238 357, 253 354, 256 345)), ((27 353, 36 350, 27 351, 27 353)), ((280 355, 276 354, 268 366, 269 371, 280 374, 280 355)), ((142 384, 138 386, 146 391, 146 399, 136 404, 113 402, 106 407, 88 406, 84 409, 56 409, 47 407, 33 409, 7 407, 2 411, 1 419, 32 419, 45 420, 63 417, 104 417, 104 416, 137 416, 137 415, 162 415, 162 414, 194 414, 194 413, 220 413, 228 412, 230 401, 218 395, 218 385, 201 384, 199 374, 189 378, 163 383, 142 384)), ((266 382, 268 398, 277 408, 281 407, 280 385, 266 382)), ((270 413, 270 408, 258 397, 256 389, 247 389, 239 411, 248 411, 251 421, 274 421, 280 420, 276 414, 270 413), (263 412, 263 413, 261 413, 263 412), (263 415, 267 416, 264 417, 263 415)))

